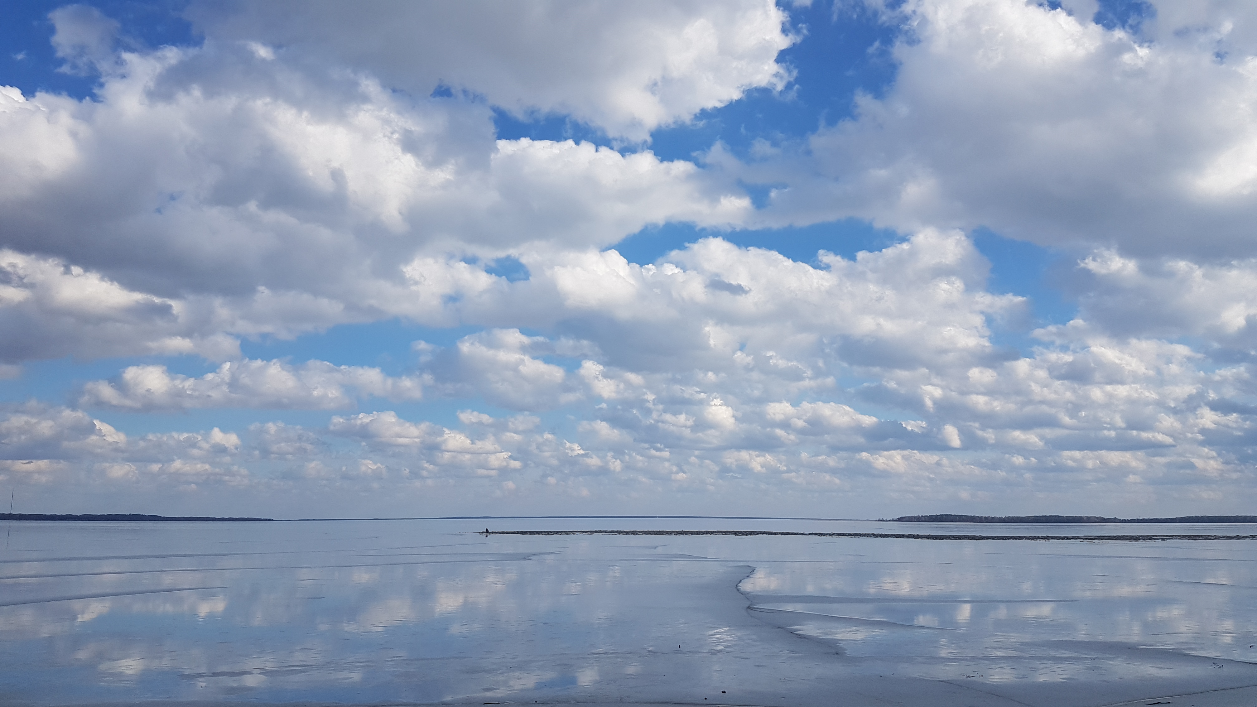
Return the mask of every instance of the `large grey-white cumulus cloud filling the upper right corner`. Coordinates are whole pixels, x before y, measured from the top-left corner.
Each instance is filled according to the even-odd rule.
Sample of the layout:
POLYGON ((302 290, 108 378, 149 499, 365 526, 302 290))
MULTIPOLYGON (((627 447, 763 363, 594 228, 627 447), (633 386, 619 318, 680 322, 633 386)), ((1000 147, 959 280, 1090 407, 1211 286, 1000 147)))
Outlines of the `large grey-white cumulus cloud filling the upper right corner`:
MULTIPOLYGON (((881 5, 881 4, 875 4, 881 5)), ((782 161, 763 216, 857 215, 1128 254, 1252 257, 1257 9, 1154 3, 1136 34, 1095 5, 911 0, 881 98, 782 161)))

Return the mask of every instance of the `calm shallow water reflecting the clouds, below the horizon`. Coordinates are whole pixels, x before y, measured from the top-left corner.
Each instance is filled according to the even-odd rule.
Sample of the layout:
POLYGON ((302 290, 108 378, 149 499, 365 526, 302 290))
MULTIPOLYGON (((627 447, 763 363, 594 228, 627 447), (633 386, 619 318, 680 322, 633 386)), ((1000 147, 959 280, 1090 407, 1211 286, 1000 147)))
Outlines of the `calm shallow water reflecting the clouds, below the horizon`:
MULTIPOLYGON (((1252 526, 18 522, 0 703, 1252 704, 1252 526), (722 692, 723 691, 723 692, 722 692), (1214 692, 1209 692, 1214 691, 1214 692)), ((1254 688, 1257 689, 1257 688, 1254 688)))

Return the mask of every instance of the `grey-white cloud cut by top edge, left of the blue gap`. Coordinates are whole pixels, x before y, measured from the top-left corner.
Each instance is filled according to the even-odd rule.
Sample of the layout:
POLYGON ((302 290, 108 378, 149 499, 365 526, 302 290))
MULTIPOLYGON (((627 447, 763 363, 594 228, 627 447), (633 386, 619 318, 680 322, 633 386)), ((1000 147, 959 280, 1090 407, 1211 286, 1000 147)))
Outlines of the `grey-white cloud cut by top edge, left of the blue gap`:
POLYGON ((782 88, 777 54, 794 42, 768 0, 199 3, 190 15, 217 40, 341 62, 419 97, 446 86, 520 116, 571 114, 630 140, 782 88))

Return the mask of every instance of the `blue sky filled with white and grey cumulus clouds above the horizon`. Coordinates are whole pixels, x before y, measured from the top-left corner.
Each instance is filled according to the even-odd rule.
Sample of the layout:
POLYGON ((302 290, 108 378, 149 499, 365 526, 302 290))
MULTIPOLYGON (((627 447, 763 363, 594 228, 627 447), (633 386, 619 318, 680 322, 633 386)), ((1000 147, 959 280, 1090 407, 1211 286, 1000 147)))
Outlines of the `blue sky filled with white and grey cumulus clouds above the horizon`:
POLYGON ((1257 6, 13 1, 0 491, 1252 513, 1257 6))

